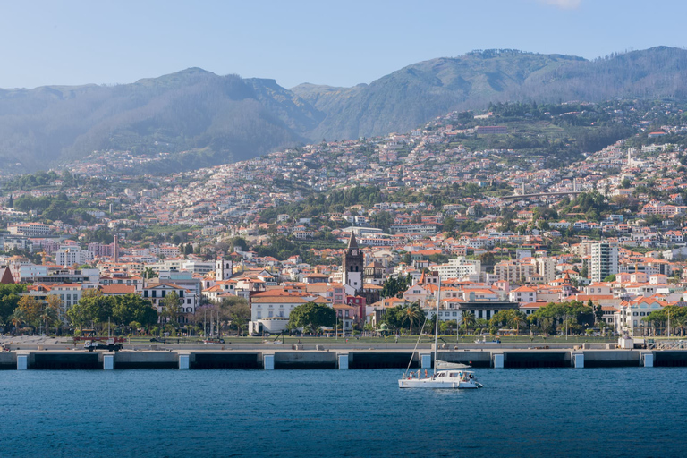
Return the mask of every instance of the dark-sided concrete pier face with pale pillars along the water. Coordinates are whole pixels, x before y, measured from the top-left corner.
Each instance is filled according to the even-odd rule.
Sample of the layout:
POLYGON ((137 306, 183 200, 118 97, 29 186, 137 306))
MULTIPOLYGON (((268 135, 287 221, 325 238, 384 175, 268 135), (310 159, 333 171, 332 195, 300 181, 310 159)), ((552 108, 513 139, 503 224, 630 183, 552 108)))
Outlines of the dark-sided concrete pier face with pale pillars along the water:
MULTIPOLYGON (((257 351, 0 352, 0 369, 429 369, 429 352, 399 349, 291 350, 265 346, 257 351)), ((489 349, 440 350, 437 360, 473 368, 687 367, 685 350, 489 349)))

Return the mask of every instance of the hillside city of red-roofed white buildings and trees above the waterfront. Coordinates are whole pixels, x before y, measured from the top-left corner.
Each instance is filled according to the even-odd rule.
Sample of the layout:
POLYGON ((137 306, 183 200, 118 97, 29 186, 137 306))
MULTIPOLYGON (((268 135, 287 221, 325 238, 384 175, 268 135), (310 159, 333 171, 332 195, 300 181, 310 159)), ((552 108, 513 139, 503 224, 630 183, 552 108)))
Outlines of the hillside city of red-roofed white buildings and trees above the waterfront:
POLYGON ((176 174, 95 152, 7 176, 0 319, 13 335, 359 337, 435 314, 453 335, 682 335, 687 123, 661 123, 681 119, 506 104, 176 174), (584 151, 561 127, 601 118, 632 133, 584 151), (335 322, 295 326, 306 304, 335 322))

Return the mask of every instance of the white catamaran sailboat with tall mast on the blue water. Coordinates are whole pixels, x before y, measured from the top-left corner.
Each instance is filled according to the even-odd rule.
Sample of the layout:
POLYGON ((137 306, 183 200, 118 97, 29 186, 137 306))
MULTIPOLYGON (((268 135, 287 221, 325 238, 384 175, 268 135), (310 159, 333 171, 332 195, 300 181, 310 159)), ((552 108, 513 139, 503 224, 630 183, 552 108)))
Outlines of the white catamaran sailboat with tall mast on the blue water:
MULTIPOLYGON (((437 360, 437 338, 439 334, 439 302, 441 301, 441 278, 437 289, 437 319, 434 330, 434 369, 432 375, 428 376, 427 369, 425 369, 422 377, 422 370, 417 372, 410 372, 410 364, 408 369, 403 373, 403 377, 398 380, 399 388, 433 388, 433 389, 477 389, 482 388, 482 384, 477 381, 474 372, 465 370, 470 368, 460 363, 446 362, 437 360)), ((424 328, 424 325, 422 326, 424 328)), ((422 335, 422 329, 420 329, 422 335)), ((420 337, 418 337, 420 342, 420 337)), ((415 344, 417 349, 417 344, 415 344)), ((415 350, 413 350, 413 354, 415 350)), ((411 356, 412 361, 412 356, 411 356)))

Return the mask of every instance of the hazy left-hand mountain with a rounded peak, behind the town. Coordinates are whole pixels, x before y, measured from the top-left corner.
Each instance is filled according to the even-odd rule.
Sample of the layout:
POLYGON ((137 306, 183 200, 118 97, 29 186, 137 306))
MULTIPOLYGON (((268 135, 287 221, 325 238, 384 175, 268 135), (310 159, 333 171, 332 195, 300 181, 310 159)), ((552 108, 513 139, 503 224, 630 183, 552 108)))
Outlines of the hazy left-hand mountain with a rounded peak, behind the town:
POLYGON ((184 168, 221 164, 306 140, 323 117, 274 81, 198 68, 116 86, 2 89, 0 159, 30 170, 94 150, 191 150, 184 168))

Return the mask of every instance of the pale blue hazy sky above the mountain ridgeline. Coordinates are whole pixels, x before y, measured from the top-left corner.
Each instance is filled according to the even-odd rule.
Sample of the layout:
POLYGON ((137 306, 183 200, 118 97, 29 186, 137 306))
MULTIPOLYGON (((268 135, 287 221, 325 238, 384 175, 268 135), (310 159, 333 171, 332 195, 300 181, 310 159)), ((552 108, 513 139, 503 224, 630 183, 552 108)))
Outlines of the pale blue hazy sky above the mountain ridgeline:
POLYGON ((188 67, 352 86, 473 49, 594 58, 684 47, 687 0, 0 0, 0 88, 188 67))

